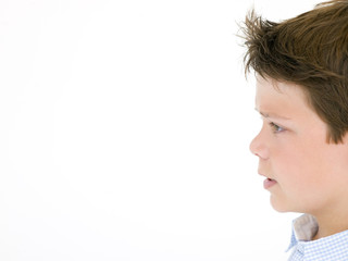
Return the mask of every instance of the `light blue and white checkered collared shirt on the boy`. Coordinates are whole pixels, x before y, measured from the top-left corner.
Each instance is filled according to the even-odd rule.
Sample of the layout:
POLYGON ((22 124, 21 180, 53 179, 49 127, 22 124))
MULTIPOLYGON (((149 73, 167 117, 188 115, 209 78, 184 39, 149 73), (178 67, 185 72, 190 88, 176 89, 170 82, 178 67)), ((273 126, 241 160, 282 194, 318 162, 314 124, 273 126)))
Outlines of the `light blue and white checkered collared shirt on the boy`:
POLYGON ((345 261, 348 260, 348 231, 311 240, 318 232, 318 223, 304 214, 293 223, 291 243, 294 248, 288 261, 345 261))

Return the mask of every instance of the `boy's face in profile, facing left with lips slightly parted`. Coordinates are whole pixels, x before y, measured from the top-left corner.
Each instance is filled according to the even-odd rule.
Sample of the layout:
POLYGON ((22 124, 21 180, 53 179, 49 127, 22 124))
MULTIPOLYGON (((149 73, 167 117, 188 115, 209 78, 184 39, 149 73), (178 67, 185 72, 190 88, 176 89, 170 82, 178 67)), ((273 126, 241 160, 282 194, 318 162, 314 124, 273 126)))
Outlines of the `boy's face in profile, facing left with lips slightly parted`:
POLYGON ((259 174, 273 179, 264 183, 273 208, 313 215, 339 208, 348 196, 347 135, 344 144, 327 144, 325 123, 295 84, 259 76, 256 109, 263 125, 250 150, 259 174))

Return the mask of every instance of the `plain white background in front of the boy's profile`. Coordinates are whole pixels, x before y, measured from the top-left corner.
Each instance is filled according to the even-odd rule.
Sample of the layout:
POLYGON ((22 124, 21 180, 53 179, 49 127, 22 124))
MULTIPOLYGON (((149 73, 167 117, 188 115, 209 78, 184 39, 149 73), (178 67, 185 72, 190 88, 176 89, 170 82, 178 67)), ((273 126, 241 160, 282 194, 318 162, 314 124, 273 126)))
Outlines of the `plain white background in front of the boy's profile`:
POLYGON ((0 260, 286 259, 297 214, 272 210, 248 149, 252 4, 1 0, 0 260))

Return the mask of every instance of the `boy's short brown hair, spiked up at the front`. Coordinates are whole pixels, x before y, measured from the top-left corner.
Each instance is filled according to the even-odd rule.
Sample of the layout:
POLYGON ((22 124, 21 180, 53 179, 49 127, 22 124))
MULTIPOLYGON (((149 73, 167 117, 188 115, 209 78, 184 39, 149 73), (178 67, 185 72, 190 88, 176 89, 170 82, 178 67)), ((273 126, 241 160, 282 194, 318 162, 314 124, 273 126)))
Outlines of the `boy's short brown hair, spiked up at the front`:
POLYGON ((251 11, 243 26, 246 73, 301 86, 338 144, 348 130, 348 0, 274 23, 251 11))

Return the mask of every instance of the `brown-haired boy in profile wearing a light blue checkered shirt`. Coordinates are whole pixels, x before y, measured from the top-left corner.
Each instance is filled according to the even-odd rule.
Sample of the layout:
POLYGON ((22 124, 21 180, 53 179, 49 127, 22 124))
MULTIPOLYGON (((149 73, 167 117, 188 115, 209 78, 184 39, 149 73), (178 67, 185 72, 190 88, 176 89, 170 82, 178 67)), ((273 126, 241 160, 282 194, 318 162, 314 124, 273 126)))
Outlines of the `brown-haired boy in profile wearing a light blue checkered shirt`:
POLYGON ((251 12, 244 33, 263 120, 250 150, 272 207, 303 213, 289 260, 348 260, 348 0, 281 23, 251 12))

